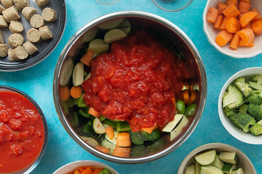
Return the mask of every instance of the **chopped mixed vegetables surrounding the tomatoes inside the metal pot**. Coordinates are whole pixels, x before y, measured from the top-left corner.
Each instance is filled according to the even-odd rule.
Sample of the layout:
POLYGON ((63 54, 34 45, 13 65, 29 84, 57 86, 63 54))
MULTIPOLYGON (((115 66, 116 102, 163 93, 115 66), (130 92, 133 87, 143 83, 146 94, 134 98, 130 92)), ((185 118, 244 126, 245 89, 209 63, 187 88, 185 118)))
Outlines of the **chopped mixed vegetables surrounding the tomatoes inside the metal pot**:
MULTIPOLYGON (((151 153, 154 149, 159 150, 165 146, 166 141, 176 139, 182 133, 184 127, 187 126, 190 117, 195 115, 197 109, 195 99, 199 93, 198 83, 179 83, 180 91, 178 92, 181 95, 170 99, 173 109, 175 109, 174 118, 163 127, 159 127, 155 123, 151 127, 141 128, 139 131, 133 132, 126 120, 111 120, 102 116, 93 107, 88 107, 84 103, 83 95, 85 93, 81 88, 81 84, 91 77, 91 73, 88 73, 86 69, 90 70, 92 60, 98 54, 110 50, 113 41, 127 37, 131 31, 131 23, 127 19, 120 18, 110 23, 102 23, 97 27, 98 30, 104 30, 104 39, 101 39, 101 36, 96 38, 88 35, 88 38, 93 39, 88 40, 88 47, 82 54, 80 61, 72 66, 73 61, 70 58, 66 63, 67 68, 70 70, 65 68, 64 72, 72 76, 73 86, 70 89, 67 87, 70 76, 65 74, 63 74, 64 79, 60 83, 60 97, 64 101, 63 107, 67 108, 67 112, 70 107, 73 107, 74 110, 72 125, 81 127, 81 138, 104 153, 119 157, 135 157, 151 153), (70 105, 66 105, 69 100, 70 105), (161 134, 167 133, 170 135, 167 140, 163 140, 161 134)), ((97 32, 97 30, 95 31, 97 32)), ((181 57, 184 57, 184 55, 179 55, 180 59, 181 57)), ((189 75, 187 76, 189 78, 189 75)), ((99 83, 103 83, 102 78, 99 83)), ((100 95, 103 100, 107 101, 105 96, 100 95)))

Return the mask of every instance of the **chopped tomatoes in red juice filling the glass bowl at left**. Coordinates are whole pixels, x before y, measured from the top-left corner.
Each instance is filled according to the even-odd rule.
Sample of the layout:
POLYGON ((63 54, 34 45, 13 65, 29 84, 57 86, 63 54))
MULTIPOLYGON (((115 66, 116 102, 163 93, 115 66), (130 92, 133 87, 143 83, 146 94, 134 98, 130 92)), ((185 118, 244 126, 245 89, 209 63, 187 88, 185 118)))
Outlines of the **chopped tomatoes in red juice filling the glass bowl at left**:
POLYGON ((44 126, 36 107, 21 94, 0 91, 0 173, 34 163, 43 142, 44 126))

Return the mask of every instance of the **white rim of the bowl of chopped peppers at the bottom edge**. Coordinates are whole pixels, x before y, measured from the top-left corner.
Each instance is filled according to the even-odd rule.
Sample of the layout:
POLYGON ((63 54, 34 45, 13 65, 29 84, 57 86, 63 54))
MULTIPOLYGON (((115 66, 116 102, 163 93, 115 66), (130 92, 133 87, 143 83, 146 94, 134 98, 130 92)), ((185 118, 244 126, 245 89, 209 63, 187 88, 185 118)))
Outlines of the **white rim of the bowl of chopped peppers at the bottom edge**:
MULTIPOLYGON (((114 174, 119 174, 116 170, 114 170, 112 167, 104 164, 104 163, 101 163, 99 161, 94 161, 94 160, 78 160, 78 161, 73 161, 73 162, 70 162, 70 163, 67 163, 61 167, 59 167, 56 171, 53 172, 53 174, 59 174, 59 172, 61 172, 60 170, 62 170, 63 168, 65 167, 69 167, 71 165, 75 165, 75 167, 77 166, 83 166, 83 165, 86 165, 88 166, 89 164, 88 163, 91 163, 90 165, 99 165, 99 166, 103 166, 105 167, 106 169, 110 170, 110 172, 114 172, 114 174)), ((74 169, 73 169, 74 170, 74 169)), ((70 171, 69 171, 70 172, 70 171)), ((67 172, 67 173, 69 173, 67 172)))

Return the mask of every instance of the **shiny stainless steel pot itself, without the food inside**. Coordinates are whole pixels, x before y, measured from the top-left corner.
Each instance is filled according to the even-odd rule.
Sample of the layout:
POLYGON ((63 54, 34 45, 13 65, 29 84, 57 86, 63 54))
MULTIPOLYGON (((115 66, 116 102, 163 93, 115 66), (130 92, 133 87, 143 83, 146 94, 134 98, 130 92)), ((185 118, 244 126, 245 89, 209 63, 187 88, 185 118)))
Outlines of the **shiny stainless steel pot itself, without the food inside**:
MULTIPOLYGON (((99 32, 99 31, 98 31, 99 32)), ((72 81, 72 78, 70 79, 72 81)), ((72 84, 72 82, 70 82, 72 84)), ((108 160, 115 163, 122 163, 122 164, 139 164, 139 163, 146 163, 149 161, 153 161, 164 157, 165 155, 173 152, 179 146, 184 143, 188 137, 192 134, 195 127, 197 126, 204 110, 205 101, 206 101, 206 93, 207 93, 207 80, 204 65, 202 59, 199 55, 198 50, 196 49, 195 45, 192 41, 188 38, 188 36, 176 25, 172 22, 146 12, 141 11, 118 11, 114 13, 110 13, 107 15, 103 15, 98 17, 91 22, 87 23, 83 26, 79 31, 77 31, 72 38, 68 41, 65 45, 64 49, 62 50, 58 62, 54 72, 54 81, 53 81, 53 97, 54 97, 54 104, 58 113, 58 116, 68 132, 68 134, 77 142, 82 148, 84 148, 89 153, 95 155, 104 160, 108 160), (65 61, 68 58, 73 58, 74 63, 79 62, 80 54, 83 50, 87 47, 87 43, 84 42, 85 38, 92 34, 96 25, 120 18, 125 17, 131 22, 132 28, 137 29, 146 29, 148 33, 153 35, 156 38, 165 39, 169 41, 170 44, 179 46, 181 51, 184 54, 185 59, 192 60, 190 62, 190 68, 195 70, 195 78, 197 78, 200 86, 199 95, 196 97, 196 103, 198 104, 196 113, 192 119, 190 119, 189 124, 186 128, 183 129, 183 132, 174 140, 166 141, 165 145, 161 148, 154 149, 152 153, 146 154, 141 157, 116 157, 111 154, 106 154, 101 151, 98 151, 88 143, 86 143, 83 139, 81 139, 81 129, 79 127, 74 127, 72 124, 73 120, 73 110, 69 108, 63 107, 60 94, 59 94, 59 84, 62 69, 65 65, 65 61), (65 112, 66 110, 66 112, 65 112)), ((161 136, 161 139, 166 140, 168 135, 161 136)))

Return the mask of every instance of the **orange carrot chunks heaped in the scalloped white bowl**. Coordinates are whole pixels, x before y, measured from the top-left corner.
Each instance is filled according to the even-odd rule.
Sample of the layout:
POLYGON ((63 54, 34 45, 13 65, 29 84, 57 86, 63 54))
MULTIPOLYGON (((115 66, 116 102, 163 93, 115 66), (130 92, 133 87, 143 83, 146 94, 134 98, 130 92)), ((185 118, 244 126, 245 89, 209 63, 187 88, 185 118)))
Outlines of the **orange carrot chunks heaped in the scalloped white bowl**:
POLYGON ((219 46, 230 43, 230 47, 253 47, 255 35, 262 34, 262 17, 252 2, 226 0, 217 7, 209 7, 206 20, 213 23, 219 32, 215 42, 219 46))

